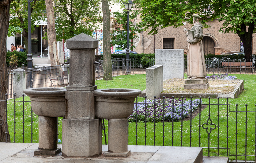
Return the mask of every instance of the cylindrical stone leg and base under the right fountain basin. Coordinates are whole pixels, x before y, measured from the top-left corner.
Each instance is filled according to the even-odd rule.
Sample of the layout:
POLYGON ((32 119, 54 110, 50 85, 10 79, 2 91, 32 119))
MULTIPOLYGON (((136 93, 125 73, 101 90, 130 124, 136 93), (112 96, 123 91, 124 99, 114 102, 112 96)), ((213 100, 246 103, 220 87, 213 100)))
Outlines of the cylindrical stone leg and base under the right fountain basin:
POLYGON ((108 121, 108 152, 105 156, 123 156, 131 154, 128 151, 127 118, 109 119, 108 121))

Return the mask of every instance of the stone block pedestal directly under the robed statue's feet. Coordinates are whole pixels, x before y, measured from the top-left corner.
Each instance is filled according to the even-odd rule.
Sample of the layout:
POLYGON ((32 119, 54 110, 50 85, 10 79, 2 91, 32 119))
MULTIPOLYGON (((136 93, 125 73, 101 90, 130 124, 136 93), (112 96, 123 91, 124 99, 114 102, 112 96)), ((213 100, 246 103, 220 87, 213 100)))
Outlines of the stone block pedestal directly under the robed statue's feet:
POLYGON ((184 89, 208 89, 208 79, 185 79, 184 89))

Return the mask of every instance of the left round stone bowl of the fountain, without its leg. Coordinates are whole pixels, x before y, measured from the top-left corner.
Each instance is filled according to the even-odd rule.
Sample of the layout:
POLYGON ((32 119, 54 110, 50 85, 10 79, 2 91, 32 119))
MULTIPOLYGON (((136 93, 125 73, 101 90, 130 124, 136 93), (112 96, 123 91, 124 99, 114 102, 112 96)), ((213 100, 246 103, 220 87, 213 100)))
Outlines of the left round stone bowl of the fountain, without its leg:
POLYGON ((63 88, 29 88, 23 90, 31 100, 31 108, 38 116, 64 117, 66 110, 63 88))

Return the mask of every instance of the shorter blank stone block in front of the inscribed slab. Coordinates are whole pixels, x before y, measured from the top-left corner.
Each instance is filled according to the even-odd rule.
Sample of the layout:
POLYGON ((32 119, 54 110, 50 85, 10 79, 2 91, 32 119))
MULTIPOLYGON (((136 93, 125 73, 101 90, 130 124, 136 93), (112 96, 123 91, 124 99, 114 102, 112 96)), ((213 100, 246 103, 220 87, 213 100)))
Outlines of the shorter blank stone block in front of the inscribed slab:
POLYGON ((163 66, 155 65, 146 69, 146 96, 160 98, 163 91, 163 66))

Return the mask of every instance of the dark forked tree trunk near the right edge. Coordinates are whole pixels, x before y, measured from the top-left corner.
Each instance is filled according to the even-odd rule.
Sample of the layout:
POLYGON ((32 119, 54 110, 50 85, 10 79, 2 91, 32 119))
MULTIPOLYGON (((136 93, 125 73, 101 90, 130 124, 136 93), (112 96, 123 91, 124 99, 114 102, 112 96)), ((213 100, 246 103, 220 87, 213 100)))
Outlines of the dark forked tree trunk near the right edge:
POLYGON ((244 34, 238 33, 238 36, 244 45, 244 55, 246 60, 252 59, 252 34, 254 27, 255 25, 253 23, 249 24, 248 28, 246 28, 245 24, 241 24, 241 31, 244 32, 244 34))

